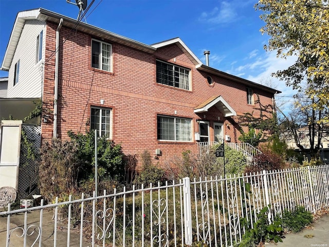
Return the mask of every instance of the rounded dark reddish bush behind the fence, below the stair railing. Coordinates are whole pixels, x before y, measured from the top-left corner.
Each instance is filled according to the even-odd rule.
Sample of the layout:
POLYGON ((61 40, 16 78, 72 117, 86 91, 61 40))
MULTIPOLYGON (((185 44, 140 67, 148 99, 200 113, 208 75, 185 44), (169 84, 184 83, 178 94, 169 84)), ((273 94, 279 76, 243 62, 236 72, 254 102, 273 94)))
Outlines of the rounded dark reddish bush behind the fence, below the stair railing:
POLYGON ((251 165, 248 165, 245 172, 259 172, 262 170, 278 170, 286 167, 284 159, 270 150, 263 150, 263 153, 252 158, 251 165))

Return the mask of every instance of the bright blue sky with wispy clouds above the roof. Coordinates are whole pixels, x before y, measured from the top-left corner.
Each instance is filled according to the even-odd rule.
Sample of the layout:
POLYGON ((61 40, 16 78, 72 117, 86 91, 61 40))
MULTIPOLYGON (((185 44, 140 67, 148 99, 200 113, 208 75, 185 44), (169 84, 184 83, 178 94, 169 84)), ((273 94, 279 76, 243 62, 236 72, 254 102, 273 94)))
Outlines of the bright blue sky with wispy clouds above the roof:
MULTIPOLYGON (((75 0, 71 0, 75 2, 75 0)), ((88 0, 88 5, 93 0, 88 0)), ((282 91, 276 101, 287 112, 296 92, 284 81, 271 77, 293 64, 263 47, 269 37, 260 28, 265 23, 257 0, 94 0, 83 19, 90 25, 120 34, 144 44, 179 37, 205 64, 204 50, 210 50, 209 66, 282 91)), ((44 8, 73 19, 79 9, 66 0, 0 0, 0 61, 6 52, 17 12, 44 8)), ((0 70, 0 78, 8 72, 0 70)))

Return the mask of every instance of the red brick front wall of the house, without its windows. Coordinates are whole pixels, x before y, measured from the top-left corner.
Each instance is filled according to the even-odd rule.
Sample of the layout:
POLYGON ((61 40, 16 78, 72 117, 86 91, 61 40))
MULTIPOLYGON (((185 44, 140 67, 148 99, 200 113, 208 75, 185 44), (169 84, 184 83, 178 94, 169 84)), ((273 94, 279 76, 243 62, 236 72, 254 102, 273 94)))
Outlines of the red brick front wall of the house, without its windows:
MULTIPOLYGON (((48 23, 46 32, 46 59, 55 49, 57 25, 48 23)), ((92 37, 79 31, 62 27, 59 66, 58 136, 68 138, 67 131, 84 132, 89 128, 90 107, 113 109, 113 139, 121 143, 125 154, 141 154, 147 149, 151 155, 156 149, 162 156, 156 162, 163 164, 184 150, 197 152, 195 142, 176 143, 157 140, 157 115, 187 117, 192 119, 192 138, 198 131, 196 119, 210 122, 213 140, 213 122, 224 122, 224 135, 237 142, 239 131, 233 119, 225 119, 215 107, 209 112, 194 114, 193 109, 212 96, 222 97, 237 112, 254 111, 247 104, 246 86, 225 78, 212 76, 214 85, 207 82, 207 74, 200 73, 195 65, 176 45, 158 49, 148 54, 118 43, 112 44, 113 73, 90 66, 92 37), (68 38, 67 38, 68 37, 68 38), (65 42, 64 42, 65 41, 65 42), (176 62, 174 62, 174 58, 176 62), (175 89, 156 83, 156 59, 169 61, 191 69, 192 91, 175 89), (104 99, 104 104, 100 100, 104 99), (176 114, 175 114, 176 111, 176 114), (205 117, 204 117, 205 116, 205 117), (227 126, 226 123, 229 125, 227 126)), ((106 40, 104 41, 106 42, 106 40)), ((43 99, 53 105, 53 56, 45 65, 43 99)), ((256 92, 256 90, 254 90, 256 92)), ((271 95, 259 92, 262 104, 271 104, 271 95)), ((51 138, 52 121, 42 123, 42 137, 51 138)))

